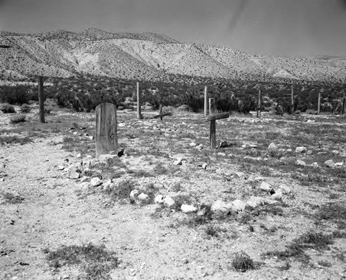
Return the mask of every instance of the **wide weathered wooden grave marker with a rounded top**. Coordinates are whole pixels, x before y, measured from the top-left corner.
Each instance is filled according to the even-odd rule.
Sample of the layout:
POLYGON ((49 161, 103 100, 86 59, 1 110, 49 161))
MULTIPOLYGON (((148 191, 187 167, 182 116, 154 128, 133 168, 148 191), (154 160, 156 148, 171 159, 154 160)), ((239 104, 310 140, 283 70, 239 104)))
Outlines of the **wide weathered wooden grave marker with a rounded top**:
POLYGON ((116 106, 102 103, 96 107, 96 158, 100 155, 117 152, 118 134, 116 106))

